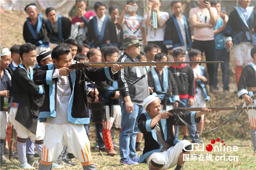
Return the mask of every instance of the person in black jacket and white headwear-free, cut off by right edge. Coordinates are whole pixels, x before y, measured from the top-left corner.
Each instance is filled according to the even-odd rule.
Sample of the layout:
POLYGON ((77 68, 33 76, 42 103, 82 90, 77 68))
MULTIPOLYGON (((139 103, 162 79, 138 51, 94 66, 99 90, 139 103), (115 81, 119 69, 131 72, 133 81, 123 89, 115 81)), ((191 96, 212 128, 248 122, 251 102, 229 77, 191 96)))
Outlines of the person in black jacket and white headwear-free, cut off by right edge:
MULTIPOLYGON (((256 99, 253 99, 256 93, 256 47, 253 47, 251 52, 253 62, 250 62, 243 68, 241 77, 238 82, 239 99, 244 99, 243 106, 256 106, 256 99)), ((253 142, 254 154, 256 154, 256 110, 248 110, 250 122, 250 136, 253 142)))

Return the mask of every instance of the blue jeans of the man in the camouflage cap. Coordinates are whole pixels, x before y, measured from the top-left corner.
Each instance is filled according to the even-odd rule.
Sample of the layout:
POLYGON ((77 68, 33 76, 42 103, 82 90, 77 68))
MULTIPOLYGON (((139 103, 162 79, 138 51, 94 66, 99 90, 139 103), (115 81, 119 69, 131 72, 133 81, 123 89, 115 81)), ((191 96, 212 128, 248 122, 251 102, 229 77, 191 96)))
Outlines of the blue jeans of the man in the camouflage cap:
POLYGON ((122 108, 121 131, 119 134, 119 150, 121 160, 135 159, 138 155, 135 151, 136 134, 140 132, 138 127, 138 118, 145 109, 140 105, 134 105, 132 113, 126 111, 125 102, 119 102, 122 108))

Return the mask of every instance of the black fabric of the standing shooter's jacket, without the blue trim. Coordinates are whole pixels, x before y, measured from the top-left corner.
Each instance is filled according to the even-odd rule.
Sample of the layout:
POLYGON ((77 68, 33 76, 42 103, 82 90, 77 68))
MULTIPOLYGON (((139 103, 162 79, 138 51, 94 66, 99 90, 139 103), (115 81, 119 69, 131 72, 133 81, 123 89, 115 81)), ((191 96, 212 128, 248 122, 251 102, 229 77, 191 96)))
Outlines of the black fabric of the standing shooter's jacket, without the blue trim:
MULTIPOLYGON (((49 71, 48 65, 44 65, 41 68, 38 68, 34 75, 34 82, 36 85, 44 85, 44 90, 46 95, 44 99, 44 104, 41 108, 41 112, 48 113, 50 112, 50 99, 49 99, 50 86, 49 84, 47 84, 47 81, 46 81, 47 71, 49 71)), ((80 70, 74 70, 74 71, 75 72, 72 74, 75 74, 75 75, 71 75, 71 73, 69 73, 70 87, 71 87, 71 91, 74 94, 73 103, 70 105, 72 107, 70 114, 73 118, 89 118, 90 114, 89 114, 87 96, 84 89, 85 85, 84 85, 84 81, 81 81, 81 84, 79 84, 80 76, 81 76, 81 80, 84 80, 84 74, 86 74, 91 81, 99 82, 99 81, 109 80, 107 75, 105 74, 106 71, 109 71, 109 75, 111 79, 115 81, 119 79, 119 74, 116 73, 113 75, 111 68, 106 68, 106 69, 105 68, 84 68, 82 69, 81 72, 80 70), (71 76, 75 77, 74 82, 71 76)), ((53 81, 55 81, 55 79, 53 79, 53 81)), ((53 84, 55 85, 55 89, 56 89, 57 84, 55 82, 53 84)), ((40 118, 40 115, 39 115, 39 118, 40 118)), ((46 121, 46 119, 44 121, 46 121)), ((79 122, 78 124, 84 124, 84 123, 79 122)))

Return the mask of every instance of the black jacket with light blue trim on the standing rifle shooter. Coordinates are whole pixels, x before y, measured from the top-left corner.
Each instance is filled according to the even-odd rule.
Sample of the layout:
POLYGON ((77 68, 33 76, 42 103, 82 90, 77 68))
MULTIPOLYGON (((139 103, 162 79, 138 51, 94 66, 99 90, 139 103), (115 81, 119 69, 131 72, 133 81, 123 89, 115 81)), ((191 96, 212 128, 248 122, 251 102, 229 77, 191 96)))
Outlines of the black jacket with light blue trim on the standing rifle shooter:
MULTIPOLYGON (((89 106, 87 102, 87 96, 84 89, 84 81, 79 84, 79 79, 84 80, 86 76, 93 82, 100 81, 117 81, 119 74, 112 74, 111 67, 105 68, 84 68, 80 70, 73 69, 74 72, 69 73, 71 97, 68 105, 67 116, 70 123, 75 124, 88 124, 89 123, 89 106)), ((34 74, 34 82, 36 85, 44 85, 45 99, 41 108, 41 112, 38 116, 40 122, 46 122, 47 118, 55 118, 55 96, 57 89, 56 79, 52 79, 52 75, 55 72, 54 64, 44 65, 38 68, 34 74)))

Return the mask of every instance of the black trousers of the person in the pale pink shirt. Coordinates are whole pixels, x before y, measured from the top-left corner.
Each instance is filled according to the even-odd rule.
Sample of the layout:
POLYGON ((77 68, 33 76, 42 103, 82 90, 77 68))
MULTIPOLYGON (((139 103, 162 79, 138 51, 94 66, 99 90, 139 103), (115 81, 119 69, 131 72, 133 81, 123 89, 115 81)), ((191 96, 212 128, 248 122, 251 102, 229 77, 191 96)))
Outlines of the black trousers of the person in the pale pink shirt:
MULTIPOLYGON (((209 41, 198 41, 194 40, 193 48, 198 49, 205 54, 206 61, 214 61, 215 42, 214 40, 209 41)), ((209 85, 214 84, 214 64, 207 64, 207 71, 209 74, 209 85)))

